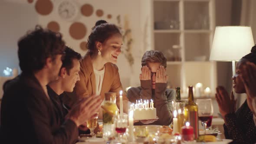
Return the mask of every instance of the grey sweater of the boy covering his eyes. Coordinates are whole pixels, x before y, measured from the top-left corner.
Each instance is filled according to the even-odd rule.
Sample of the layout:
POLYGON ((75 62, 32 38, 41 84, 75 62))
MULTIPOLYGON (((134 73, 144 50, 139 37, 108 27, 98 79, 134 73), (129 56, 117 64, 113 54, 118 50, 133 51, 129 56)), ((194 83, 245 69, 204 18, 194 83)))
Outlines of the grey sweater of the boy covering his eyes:
MULTIPOLYGON (((136 103, 139 99, 153 99, 154 107, 157 110, 158 120, 151 124, 169 125, 172 122, 172 104, 171 101, 175 98, 175 90, 167 89, 166 83, 156 83, 155 90, 152 90, 151 80, 141 81, 141 86, 130 88, 127 92, 127 98, 132 103, 136 103)), ((135 125, 143 125, 141 122, 135 125)))

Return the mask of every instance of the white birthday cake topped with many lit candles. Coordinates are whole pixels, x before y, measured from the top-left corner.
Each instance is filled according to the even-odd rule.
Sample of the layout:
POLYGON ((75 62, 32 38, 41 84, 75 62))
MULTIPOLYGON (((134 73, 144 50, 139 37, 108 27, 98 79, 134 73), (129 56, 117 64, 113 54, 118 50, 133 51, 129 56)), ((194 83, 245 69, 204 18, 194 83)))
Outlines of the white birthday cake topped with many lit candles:
POLYGON ((153 101, 151 100, 150 105, 148 101, 144 101, 144 103, 142 103, 141 101, 139 102, 136 101, 135 105, 134 104, 131 105, 130 111, 133 111, 134 120, 156 119, 157 111, 156 111, 156 108, 154 108, 153 101))

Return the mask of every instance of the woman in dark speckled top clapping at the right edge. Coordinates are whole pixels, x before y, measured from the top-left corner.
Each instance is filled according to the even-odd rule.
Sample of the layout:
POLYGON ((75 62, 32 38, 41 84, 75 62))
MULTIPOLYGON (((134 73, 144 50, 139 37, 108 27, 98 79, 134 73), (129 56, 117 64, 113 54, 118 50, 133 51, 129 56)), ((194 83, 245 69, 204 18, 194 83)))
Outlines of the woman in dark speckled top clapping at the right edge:
MULTIPOLYGON (((232 77, 234 84, 233 88, 236 93, 246 93, 247 95, 246 101, 244 101, 243 105, 241 105, 237 111, 235 111, 236 102, 234 100, 233 92, 231 93, 230 98, 224 87, 218 86, 216 88, 216 100, 219 105, 220 114, 225 121, 225 124, 223 125, 225 137, 227 139, 232 139, 232 144, 256 143, 256 126, 253 121, 253 108, 251 101, 248 99, 250 93, 248 91, 248 85, 246 84, 248 82, 243 78, 248 62, 253 65, 256 64, 256 46, 253 46, 251 52, 248 55, 243 56, 243 58, 236 63, 236 74, 232 77)), ((251 89, 255 89, 255 87, 251 89)))

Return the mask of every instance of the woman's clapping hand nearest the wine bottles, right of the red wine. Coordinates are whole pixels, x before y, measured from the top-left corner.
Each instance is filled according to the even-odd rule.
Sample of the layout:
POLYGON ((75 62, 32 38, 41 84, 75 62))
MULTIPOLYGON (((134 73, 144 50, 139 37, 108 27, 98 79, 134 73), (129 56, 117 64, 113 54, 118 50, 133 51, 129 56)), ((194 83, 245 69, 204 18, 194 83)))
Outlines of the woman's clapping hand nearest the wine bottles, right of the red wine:
POLYGON ((220 114, 225 118, 226 114, 232 113, 236 109, 236 100, 234 98, 233 92, 231 92, 231 98, 223 86, 218 86, 216 88, 215 98, 219 105, 220 114))

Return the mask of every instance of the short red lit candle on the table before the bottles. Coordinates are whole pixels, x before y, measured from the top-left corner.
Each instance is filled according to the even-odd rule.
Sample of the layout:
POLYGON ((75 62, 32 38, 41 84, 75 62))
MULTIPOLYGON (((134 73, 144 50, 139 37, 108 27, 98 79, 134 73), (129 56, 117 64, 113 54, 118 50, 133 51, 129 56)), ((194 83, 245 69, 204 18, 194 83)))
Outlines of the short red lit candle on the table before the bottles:
POLYGON ((181 128, 181 135, 183 141, 194 141, 194 128, 190 126, 189 122, 186 122, 181 128))

